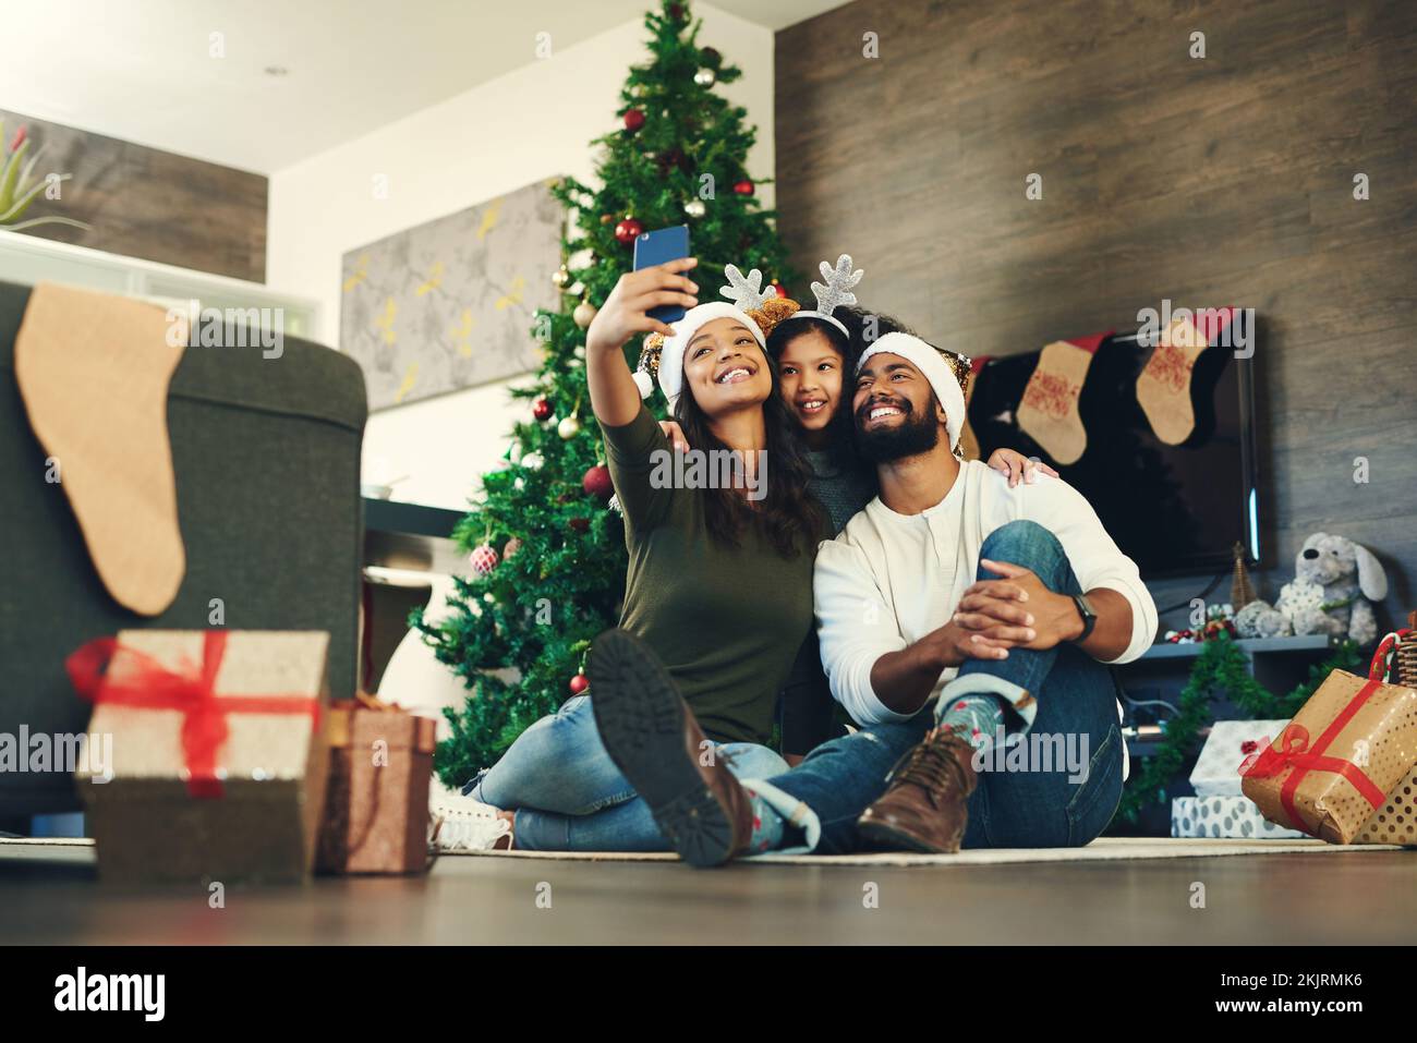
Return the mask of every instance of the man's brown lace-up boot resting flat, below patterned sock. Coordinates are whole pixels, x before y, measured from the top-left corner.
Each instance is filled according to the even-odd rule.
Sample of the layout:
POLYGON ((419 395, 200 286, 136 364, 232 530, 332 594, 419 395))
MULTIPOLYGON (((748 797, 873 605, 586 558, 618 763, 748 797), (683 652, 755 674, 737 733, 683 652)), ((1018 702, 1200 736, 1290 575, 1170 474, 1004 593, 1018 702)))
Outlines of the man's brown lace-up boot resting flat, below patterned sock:
POLYGON ((886 792, 856 819, 856 829, 877 847, 954 855, 969 822, 969 794, 979 781, 972 758, 972 745, 932 728, 896 762, 886 792))

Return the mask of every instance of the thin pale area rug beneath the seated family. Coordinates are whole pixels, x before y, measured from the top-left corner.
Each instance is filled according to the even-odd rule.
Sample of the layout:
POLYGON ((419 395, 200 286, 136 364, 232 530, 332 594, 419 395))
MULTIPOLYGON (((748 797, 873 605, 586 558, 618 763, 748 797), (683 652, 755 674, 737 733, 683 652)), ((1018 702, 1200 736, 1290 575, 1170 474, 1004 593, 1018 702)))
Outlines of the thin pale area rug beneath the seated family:
MULTIPOLYGON (((1322 840, 1214 840, 1104 836, 1087 847, 1000 847, 958 855, 758 855, 757 866, 998 866, 1020 862, 1117 862, 1124 859, 1204 859, 1243 855, 1376 855, 1404 850, 1394 845, 1339 846, 1322 840)), ((1417 849, 1411 849, 1417 850, 1417 849)), ((677 862, 677 855, 628 852, 444 852, 442 857, 557 859, 564 862, 677 862)))

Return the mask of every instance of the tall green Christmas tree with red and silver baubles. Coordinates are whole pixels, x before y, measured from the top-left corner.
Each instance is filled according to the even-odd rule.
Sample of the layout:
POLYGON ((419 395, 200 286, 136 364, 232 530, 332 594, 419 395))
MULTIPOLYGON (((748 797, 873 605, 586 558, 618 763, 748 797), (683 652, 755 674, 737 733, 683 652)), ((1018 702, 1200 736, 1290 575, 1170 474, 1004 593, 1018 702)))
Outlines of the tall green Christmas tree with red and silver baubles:
MULTIPOLYGON (((689 224, 700 282, 710 299, 726 264, 786 279, 772 211, 755 198, 744 163, 755 130, 747 111, 716 91, 741 72, 697 43, 687 4, 645 17, 650 60, 631 68, 615 113, 595 139, 599 188, 560 181, 567 207, 563 291, 557 313, 538 312, 531 334, 544 349, 533 385, 514 390, 526 419, 512 432, 506 465, 485 475, 455 533, 473 575, 456 581, 436 625, 412 624, 438 659, 468 683, 438 772, 459 785, 493 764, 538 717, 584 690, 581 672, 597 633, 614 626, 625 591, 625 533, 611 502, 599 428, 585 390, 585 327, 615 281, 631 269, 643 230, 689 224)), ((609 116, 609 113, 606 113, 609 116)), ((631 366, 640 340, 626 344, 631 366)), ((650 401, 665 415, 663 397, 650 401)))

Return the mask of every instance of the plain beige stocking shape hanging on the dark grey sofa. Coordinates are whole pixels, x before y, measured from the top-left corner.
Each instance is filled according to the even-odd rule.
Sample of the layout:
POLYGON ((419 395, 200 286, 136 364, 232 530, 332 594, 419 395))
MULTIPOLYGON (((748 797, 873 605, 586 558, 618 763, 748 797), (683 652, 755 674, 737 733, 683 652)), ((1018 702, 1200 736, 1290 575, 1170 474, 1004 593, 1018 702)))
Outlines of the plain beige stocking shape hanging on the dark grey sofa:
POLYGON ((187 571, 167 439, 186 344, 184 316, 54 283, 30 293, 14 342, 20 397, 52 458, 35 468, 62 486, 108 592, 142 615, 166 609, 187 571))

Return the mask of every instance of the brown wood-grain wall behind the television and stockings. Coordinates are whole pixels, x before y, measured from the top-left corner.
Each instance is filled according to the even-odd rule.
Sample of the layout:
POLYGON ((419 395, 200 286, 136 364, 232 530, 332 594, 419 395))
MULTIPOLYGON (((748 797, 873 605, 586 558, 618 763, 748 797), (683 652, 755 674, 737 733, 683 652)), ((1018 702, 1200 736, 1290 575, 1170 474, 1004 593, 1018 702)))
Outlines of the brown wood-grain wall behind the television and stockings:
POLYGON ((1417 605, 1414 160, 1406 1, 857 0, 777 37, 799 271, 849 251, 864 306, 971 354, 1162 298, 1254 308, 1264 592, 1308 533, 1342 533, 1387 565, 1387 622, 1417 605))

